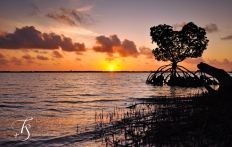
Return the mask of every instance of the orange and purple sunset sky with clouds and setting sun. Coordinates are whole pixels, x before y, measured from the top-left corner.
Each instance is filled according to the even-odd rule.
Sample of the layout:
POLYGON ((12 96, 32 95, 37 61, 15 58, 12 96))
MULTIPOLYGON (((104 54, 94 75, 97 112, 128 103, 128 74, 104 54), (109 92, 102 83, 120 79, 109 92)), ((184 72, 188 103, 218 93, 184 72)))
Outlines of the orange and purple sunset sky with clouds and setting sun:
POLYGON ((231 0, 1 0, 0 70, 151 71, 150 28, 193 22, 207 32, 206 62, 232 71, 231 0))

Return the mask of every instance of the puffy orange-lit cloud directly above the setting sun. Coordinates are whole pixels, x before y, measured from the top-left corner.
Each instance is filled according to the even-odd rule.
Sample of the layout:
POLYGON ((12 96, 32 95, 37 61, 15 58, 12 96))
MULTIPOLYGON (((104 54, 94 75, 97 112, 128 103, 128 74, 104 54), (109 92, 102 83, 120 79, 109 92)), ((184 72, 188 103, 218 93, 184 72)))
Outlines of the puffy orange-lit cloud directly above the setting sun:
POLYGON ((94 51, 107 53, 110 57, 114 53, 118 53, 121 57, 137 57, 139 55, 133 41, 125 39, 121 43, 117 35, 111 35, 110 37, 98 36, 96 37, 96 44, 97 46, 93 47, 94 51))

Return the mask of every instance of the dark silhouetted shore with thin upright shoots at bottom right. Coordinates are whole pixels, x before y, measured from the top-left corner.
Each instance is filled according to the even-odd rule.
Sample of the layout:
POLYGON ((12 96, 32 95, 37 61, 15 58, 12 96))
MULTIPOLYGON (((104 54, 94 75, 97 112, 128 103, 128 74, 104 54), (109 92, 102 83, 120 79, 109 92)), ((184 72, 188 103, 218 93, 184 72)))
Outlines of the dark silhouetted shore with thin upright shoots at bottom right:
POLYGON ((96 137, 106 146, 231 146, 232 95, 157 97, 122 112, 96 114, 96 137), (116 118, 117 121, 113 121, 116 118), (108 123, 106 123, 108 121, 108 123))

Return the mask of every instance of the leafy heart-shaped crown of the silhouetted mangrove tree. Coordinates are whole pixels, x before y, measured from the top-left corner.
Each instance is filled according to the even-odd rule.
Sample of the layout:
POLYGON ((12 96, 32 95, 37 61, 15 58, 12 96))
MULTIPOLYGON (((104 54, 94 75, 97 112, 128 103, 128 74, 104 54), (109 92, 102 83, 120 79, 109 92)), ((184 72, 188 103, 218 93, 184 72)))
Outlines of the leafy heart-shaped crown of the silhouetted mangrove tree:
POLYGON ((152 43, 156 42, 158 46, 152 50, 156 60, 178 63, 202 56, 209 42, 203 28, 193 22, 184 25, 181 31, 172 28, 166 24, 150 28, 152 43))

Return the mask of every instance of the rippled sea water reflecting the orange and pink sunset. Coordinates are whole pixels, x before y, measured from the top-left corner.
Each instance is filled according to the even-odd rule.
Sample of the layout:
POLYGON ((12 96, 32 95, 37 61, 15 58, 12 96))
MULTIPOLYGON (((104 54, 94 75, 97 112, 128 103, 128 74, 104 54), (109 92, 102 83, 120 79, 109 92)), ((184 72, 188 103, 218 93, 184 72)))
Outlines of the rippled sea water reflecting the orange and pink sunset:
POLYGON ((139 98, 205 90, 154 87, 145 84, 148 75, 0 73, 0 146, 103 146, 83 134, 93 129, 95 114, 127 107, 139 98))

